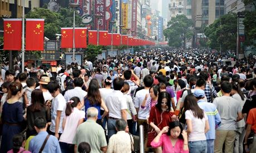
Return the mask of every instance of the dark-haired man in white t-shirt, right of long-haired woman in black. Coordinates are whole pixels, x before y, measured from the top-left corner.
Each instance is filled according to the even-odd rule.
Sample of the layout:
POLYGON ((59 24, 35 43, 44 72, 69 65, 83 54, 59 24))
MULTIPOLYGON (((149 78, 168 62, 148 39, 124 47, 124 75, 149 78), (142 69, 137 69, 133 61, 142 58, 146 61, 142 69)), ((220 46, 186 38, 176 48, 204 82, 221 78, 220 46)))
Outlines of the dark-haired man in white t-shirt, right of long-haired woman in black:
POLYGON ((51 126, 50 134, 55 135, 57 138, 63 132, 62 123, 65 116, 66 110, 66 100, 63 95, 60 93, 60 86, 58 81, 52 81, 47 85, 47 88, 51 95, 53 96, 51 104, 51 126))

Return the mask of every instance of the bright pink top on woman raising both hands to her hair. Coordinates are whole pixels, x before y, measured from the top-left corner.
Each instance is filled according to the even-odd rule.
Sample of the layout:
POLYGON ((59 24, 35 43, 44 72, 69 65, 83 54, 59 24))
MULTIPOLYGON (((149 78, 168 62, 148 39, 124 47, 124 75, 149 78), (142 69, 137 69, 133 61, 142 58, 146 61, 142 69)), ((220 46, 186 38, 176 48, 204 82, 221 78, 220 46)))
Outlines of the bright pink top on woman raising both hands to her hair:
POLYGON ((170 137, 166 134, 161 135, 158 143, 152 141, 151 146, 154 148, 162 146, 163 153, 189 153, 189 149, 186 151, 183 150, 183 140, 178 139, 175 146, 173 147, 170 137))

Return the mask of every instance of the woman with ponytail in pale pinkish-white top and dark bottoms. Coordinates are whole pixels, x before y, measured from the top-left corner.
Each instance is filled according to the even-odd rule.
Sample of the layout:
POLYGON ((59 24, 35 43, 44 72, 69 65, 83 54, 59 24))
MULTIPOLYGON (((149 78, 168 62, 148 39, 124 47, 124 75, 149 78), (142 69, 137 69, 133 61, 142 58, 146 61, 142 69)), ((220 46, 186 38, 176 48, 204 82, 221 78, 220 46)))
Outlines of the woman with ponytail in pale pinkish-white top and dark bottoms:
POLYGON ((63 133, 60 137, 61 152, 74 152, 75 145, 72 143, 73 137, 76 134, 78 125, 83 123, 85 118, 85 111, 80 110, 83 107, 80 99, 74 96, 67 101, 67 107, 65 111, 65 118, 63 120, 63 133))

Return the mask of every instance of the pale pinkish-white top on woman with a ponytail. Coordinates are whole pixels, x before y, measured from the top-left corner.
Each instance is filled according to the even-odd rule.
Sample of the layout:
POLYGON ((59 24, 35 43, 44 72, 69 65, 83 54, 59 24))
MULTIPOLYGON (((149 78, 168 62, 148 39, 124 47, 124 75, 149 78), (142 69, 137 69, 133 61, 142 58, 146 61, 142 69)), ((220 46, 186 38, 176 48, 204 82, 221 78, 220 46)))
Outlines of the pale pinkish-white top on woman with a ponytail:
POLYGON ((63 133, 60 137, 60 142, 66 142, 67 144, 73 144, 73 138, 76 134, 79 120, 85 118, 85 111, 73 108, 72 113, 69 116, 65 115, 66 123, 63 133))

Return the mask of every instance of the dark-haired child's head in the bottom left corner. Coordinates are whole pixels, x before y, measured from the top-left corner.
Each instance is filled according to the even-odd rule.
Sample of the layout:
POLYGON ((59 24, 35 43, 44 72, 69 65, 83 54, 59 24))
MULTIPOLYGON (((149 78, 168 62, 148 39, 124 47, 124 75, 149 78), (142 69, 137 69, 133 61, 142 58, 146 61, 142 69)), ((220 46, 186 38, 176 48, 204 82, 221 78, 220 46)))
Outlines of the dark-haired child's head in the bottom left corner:
POLYGON ((23 134, 16 134, 12 138, 13 147, 7 153, 31 153, 24 149, 25 146, 25 136, 23 134))

